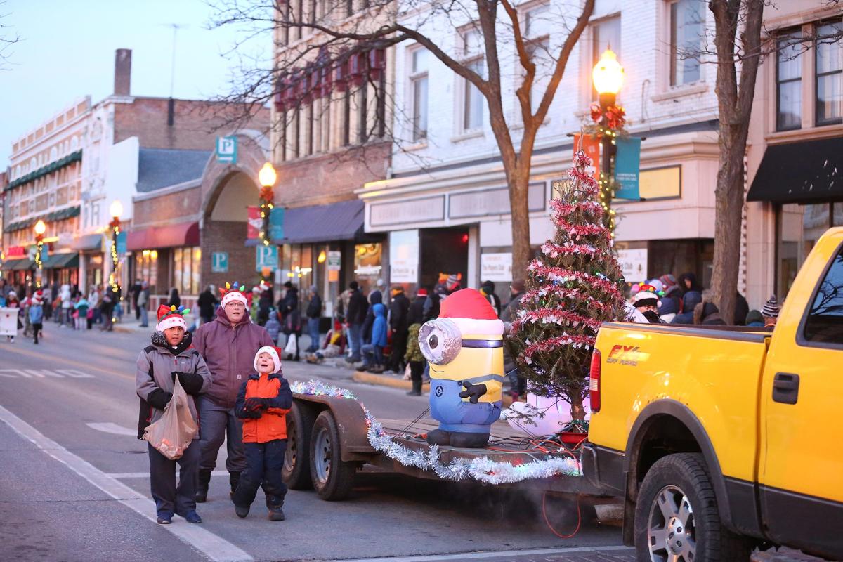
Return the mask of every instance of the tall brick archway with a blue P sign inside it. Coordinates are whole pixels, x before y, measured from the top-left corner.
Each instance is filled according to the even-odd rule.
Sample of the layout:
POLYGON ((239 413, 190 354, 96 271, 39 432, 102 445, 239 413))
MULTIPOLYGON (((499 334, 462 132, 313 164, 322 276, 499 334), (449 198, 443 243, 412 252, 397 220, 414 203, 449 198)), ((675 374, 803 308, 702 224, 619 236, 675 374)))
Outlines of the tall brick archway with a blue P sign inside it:
POLYGON ((257 175, 266 152, 256 134, 238 133, 236 163, 208 163, 202 176, 202 283, 219 287, 226 281, 253 286, 255 250, 246 247, 248 207, 258 204, 257 175))

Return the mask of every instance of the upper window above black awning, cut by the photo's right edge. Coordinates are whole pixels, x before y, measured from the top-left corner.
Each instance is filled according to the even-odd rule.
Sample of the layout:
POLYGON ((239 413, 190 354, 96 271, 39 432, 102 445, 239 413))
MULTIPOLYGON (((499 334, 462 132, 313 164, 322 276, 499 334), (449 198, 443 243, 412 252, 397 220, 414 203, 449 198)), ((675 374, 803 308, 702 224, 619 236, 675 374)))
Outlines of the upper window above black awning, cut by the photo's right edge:
POLYGON ((817 125, 843 122, 843 21, 820 24, 815 39, 817 53, 817 125), (836 40, 830 38, 836 37, 836 40), (829 39, 824 39, 829 38, 829 39))

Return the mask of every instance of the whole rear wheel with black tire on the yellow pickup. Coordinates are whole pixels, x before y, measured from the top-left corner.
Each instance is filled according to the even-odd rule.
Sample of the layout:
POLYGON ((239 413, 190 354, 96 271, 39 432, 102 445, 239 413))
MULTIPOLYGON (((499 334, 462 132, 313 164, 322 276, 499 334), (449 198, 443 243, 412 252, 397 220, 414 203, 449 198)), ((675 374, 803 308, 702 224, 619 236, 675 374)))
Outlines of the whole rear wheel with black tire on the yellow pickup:
POLYGON ((660 458, 647 472, 635 511, 639 560, 749 560, 749 540, 722 526, 706 461, 699 453, 660 458))

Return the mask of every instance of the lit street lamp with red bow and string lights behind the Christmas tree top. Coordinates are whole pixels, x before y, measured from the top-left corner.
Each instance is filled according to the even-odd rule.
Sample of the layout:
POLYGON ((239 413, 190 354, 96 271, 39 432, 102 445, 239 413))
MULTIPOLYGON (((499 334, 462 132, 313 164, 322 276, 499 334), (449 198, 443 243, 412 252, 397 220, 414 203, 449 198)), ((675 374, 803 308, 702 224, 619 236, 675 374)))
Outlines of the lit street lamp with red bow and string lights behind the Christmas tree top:
POLYGON ((592 110, 592 119, 598 124, 597 133, 600 137, 600 202, 606 211, 606 222, 614 235, 614 215, 611 201, 614 193, 612 185, 612 158, 615 156, 615 137, 618 129, 623 126, 624 111, 616 105, 620 87, 624 83, 624 67, 620 66, 618 57, 611 49, 606 49, 592 71, 594 89, 597 90, 599 109, 592 110))

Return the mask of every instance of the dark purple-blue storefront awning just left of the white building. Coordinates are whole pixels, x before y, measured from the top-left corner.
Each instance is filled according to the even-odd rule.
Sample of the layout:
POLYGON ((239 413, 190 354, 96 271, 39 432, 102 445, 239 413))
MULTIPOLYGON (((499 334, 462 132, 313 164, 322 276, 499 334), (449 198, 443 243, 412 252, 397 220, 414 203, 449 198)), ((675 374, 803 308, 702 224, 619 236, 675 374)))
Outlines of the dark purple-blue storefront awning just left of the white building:
POLYGON ((276 244, 309 244, 353 240, 362 233, 363 202, 359 199, 330 205, 305 206, 284 212, 284 238, 276 244))

